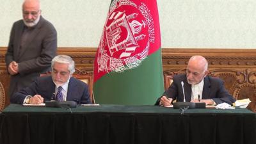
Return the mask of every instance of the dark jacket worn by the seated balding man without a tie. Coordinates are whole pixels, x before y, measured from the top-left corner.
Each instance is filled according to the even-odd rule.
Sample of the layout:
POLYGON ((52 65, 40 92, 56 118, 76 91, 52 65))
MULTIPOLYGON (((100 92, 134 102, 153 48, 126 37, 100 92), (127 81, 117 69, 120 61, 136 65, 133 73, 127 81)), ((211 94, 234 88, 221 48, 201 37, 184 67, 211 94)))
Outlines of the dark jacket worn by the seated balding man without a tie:
MULTIPOLYGON (((184 93, 186 102, 191 101, 191 84, 188 83, 187 77, 185 74, 178 75, 173 77, 173 83, 166 90, 163 95, 166 95, 169 98, 177 99, 178 102, 182 102, 183 91, 181 81, 184 82, 184 93)), ((156 105, 159 104, 161 97, 157 99, 156 105)), ((206 76, 204 77, 204 88, 202 93, 202 99, 212 99, 216 104, 220 104, 222 102, 227 102, 228 104, 232 104, 236 101, 230 93, 225 89, 223 81, 217 77, 206 76)))

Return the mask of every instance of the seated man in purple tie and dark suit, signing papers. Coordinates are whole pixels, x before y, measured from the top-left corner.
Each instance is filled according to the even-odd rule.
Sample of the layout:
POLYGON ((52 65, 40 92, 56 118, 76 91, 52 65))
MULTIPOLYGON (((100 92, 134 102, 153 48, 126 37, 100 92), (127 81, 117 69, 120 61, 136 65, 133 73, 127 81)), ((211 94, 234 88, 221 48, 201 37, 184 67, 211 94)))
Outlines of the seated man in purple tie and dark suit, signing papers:
POLYGON ((38 77, 29 87, 15 93, 10 102, 41 104, 45 100, 73 100, 77 104, 92 103, 88 85, 72 77, 75 72, 75 63, 70 56, 55 56, 51 67, 52 76, 38 77))

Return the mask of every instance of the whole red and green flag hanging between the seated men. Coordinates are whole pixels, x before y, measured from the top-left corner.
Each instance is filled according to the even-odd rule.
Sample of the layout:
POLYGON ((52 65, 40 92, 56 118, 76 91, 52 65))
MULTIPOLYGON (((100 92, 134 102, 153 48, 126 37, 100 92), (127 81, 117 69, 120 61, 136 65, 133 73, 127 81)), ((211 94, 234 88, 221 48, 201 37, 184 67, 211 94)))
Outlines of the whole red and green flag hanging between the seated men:
POLYGON ((164 91, 156 0, 113 0, 94 61, 99 104, 154 104, 164 91))

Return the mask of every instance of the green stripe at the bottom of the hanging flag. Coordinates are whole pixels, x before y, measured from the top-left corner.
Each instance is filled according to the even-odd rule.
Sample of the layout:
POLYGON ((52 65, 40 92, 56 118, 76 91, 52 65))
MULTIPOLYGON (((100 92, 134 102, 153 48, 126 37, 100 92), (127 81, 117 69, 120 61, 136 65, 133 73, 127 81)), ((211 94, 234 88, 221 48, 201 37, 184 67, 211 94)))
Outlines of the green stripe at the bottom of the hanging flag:
POLYGON ((150 54, 139 67, 106 74, 93 86, 99 104, 154 104, 163 90, 161 49, 150 54))

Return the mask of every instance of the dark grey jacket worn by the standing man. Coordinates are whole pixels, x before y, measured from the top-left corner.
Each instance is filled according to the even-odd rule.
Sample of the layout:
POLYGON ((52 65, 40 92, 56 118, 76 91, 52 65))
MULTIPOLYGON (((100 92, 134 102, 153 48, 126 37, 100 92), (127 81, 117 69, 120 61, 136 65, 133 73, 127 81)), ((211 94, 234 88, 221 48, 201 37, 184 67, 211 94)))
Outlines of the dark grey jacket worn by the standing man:
POLYGON ((32 30, 32 38, 20 49, 24 28, 22 20, 13 24, 5 55, 7 68, 12 61, 19 63, 19 74, 11 76, 10 96, 21 88, 29 86, 41 73, 51 70, 51 60, 56 56, 57 33, 50 22, 40 17, 38 24, 32 30))

